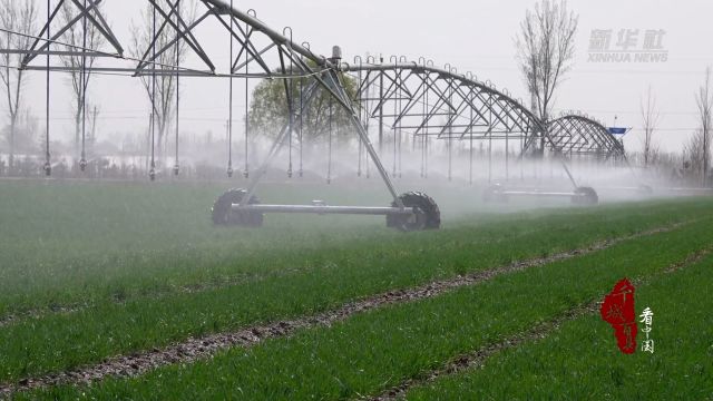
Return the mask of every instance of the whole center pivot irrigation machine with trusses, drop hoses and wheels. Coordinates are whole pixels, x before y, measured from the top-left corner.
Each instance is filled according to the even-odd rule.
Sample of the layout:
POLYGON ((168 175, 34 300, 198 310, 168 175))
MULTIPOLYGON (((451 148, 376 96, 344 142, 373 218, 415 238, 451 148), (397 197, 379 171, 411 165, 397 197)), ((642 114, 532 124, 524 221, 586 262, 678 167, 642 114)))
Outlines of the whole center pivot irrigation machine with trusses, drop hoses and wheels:
MULTIPOLYGON (((540 121, 530 110, 522 106, 522 101, 514 99, 507 90, 499 91, 489 81, 479 81, 471 74, 459 75, 451 66, 437 68, 432 61, 421 58, 417 62, 409 62, 404 58, 392 58, 389 63, 383 59, 356 58, 353 63, 342 61, 341 49, 334 47, 331 57, 318 56, 310 49, 309 43, 299 45, 292 40, 292 30, 285 28, 283 32, 275 31, 256 18, 253 10, 240 11, 233 7, 233 1, 198 0, 205 8, 197 18, 186 21, 182 16, 182 0, 146 0, 153 10, 149 18, 153 27, 147 48, 139 58, 125 56, 124 48, 115 37, 110 26, 99 9, 102 0, 48 0, 47 22, 33 39, 29 49, 3 49, 4 53, 20 53, 23 56, 21 65, 25 70, 41 70, 47 72, 47 133, 46 133, 46 164, 45 172, 51 174, 50 155, 50 72, 79 72, 81 75, 80 104, 86 100, 86 80, 88 71, 91 74, 126 75, 147 79, 152 108, 156 111, 156 82, 160 77, 175 77, 176 85, 180 77, 188 78, 223 78, 229 89, 229 123, 228 138, 233 133, 233 99, 234 81, 245 80, 245 101, 248 98, 250 79, 279 79, 284 82, 286 99, 286 123, 272 143, 262 166, 252 174, 245 158, 243 175, 251 178, 245 189, 231 189, 223 194, 213 206, 213 222, 221 225, 260 226, 265 213, 313 213, 313 214, 358 214, 384 215, 387 224, 403 231, 434 229, 440 227, 440 211, 437 204, 423 193, 410 192, 399 194, 392 183, 401 172, 399 147, 402 146, 401 136, 412 136, 412 141, 419 144, 421 150, 421 176, 428 177, 429 143, 430 139, 445 140, 448 151, 448 178, 452 176, 453 143, 470 145, 470 182, 473 170, 473 141, 487 141, 489 157, 491 157, 492 141, 505 141, 506 168, 509 168, 510 149, 519 151, 521 162, 526 155, 544 156, 545 153, 561 162, 574 186, 573 193, 560 194, 572 196, 578 203, 596 203, 597 195, 592 188, 580 188, 569 174, 564 157, 567 155, 595 155, 597 158, 623 158, 624 149, 602 124, 585 116, 570 115, 550 123, 540 121), (78 14, 57 28, 57 16, 65 3, 72 7, 78 14), (229 41, 229 69, 218 72, 212 61, 206 47, 197 39, 198 27, 212 21, 224 29, 226 42, 229 41), (65 43, 62 35, 75 26, 81 26, 84 32, 82 46, 65 43), (106 38, 110 50, 87 48, 87 28, 94 27, 106 38), (166 40, 166 36, 168 39, 166 40), (164 40, 162 40, 164 38, 164 40), (201 63, 198 67, 182 66, 182 50, 187 49, 201 63), (37 62, 39 56, 46 57, 46 62, 37 62), (52 57, 79 57, 78 66, 53 66, 52 57), (102 66, 95 67, 87 63, 88 58, 102 58, 117 62, 131 62, 131 67, 102 66), (344 75, 354 77, 358 81, 355 94, 350 94, 344 85, 344 75), (296 80, 299 89, 292 81, 296 80), (261 178, 266 173, 277 155, 286 147, 289 154, 287 176, 293 176, 293 143, 295 138, 302 144, 303 117, 320 94, 328 94, 330 101, 343 108, 352 126, 352 131, 359 138, 359 167, 362 174, 362 162, 369 169, 373 165, 393 198, 388 207, 363 206, 328 206, 323 202, 314 200, 311 205, 267 205, 261 204, 255 190, 261 178), (393 169, 391 175, 382 164, 380 153, 370 140, 370 121, 377 121, 380 150, 384 129, 393 131, 393 169), (397 138, 398 141, 397 141, 397 138)), ((184 0, 185 2, 185 0, 184 0)), ((18 32, 9 32, 21 35, 18 32)), ((216 37, 212 35, 207 40, 213 45, 216 37)), ((178 165, 178 127, 179 127, 179 90, 176 89, 176 155, 174 174, 179 174, 178 165)), ((82 107, 86 109, 86 107, 82 107)), ((82 113, 82 121, 86 119, 82 113)), ((245 153, 247 156, 247 115, 245 118, 245 153)), ((156 124, 152 119, 152 162, 149 177, 156 177, 156 162, 154 157, 156 124)), ((373 127, 371 127, 373 130, 373 127)), ((82 124, 82 151, 79 162, 84 169, 87 165, 84 150, 85 128, 82 124)), ((301 146, 301 145, 300 145, 301 146)), ((301 155, 300 155, 301 157, 301 155)), ((302 160, 299 174, 302 175, 302 160)), ((233 175, 232 146, 228 151, 227 174, 233 175)), ((489 172, 489 175, 491 173, 489 172)), ((520 193, 506 192, 501 188, 491 189, 495 197, 518 195, 520 193)), ((535 193, 534 195, 537 195, 535 193)))

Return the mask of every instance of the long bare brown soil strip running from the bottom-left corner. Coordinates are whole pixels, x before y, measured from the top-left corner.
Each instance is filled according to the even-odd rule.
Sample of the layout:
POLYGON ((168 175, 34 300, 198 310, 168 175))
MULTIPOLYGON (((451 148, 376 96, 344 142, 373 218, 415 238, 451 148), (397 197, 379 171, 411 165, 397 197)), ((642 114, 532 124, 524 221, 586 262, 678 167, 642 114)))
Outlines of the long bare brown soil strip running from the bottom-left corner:
POLYGON ((377 310, 387 305, 436 297, 449 291, 477 285, 504 274, 516 273, 527 268, 587 255, 626 241, 673 232, 695 222, 697 221, 694 219, 676 223, 632 235, 600 241, 584 248, 563 252, 547 257, 518 261, 507 266, 475 272, 450 280, 436 281, 413 288, 391 291, 362 301, 349 303, 336 310, 314 316, 280 321, 267 325, 251 326, 237 332, 212 334, 201 339, 188 339, 187 341, 169 345, 163 350, 155 349, 144 353, 113 358, 96 365, 47 374, 40 378, 27 378, 20 380, 18 383, 3 383, 0 384, 0 398, 9 398, 13 393, 21 391, 62 384, 88 384, 100 381, 107 376, 138 376, 164 365, 192 363, 198 360, 206 360, 219 351, 229 348, 250 348, 267 339, 289 336, 301 329, 330 326, 333 323, 344 321, 359 313, 377 310))

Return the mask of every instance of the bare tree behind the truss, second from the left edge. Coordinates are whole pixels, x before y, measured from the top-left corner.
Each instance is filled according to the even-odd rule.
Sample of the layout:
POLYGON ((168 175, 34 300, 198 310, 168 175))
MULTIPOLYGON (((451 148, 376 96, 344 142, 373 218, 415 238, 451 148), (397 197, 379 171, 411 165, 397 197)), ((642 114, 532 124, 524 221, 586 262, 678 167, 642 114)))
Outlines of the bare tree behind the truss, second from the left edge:
MULTIPOLYGON (((98 10, 100 10, 99 6, 94 12, 97 12, 98 10)), ((61 23, 64 26, 69 25, 69 22, 75 19, 78 11, 79 9, 75 7, 74 3, 65 2, 60 14, 61 23)), ((81 51, 81 49, 97 50, 106 42, 106 38, 94 23, 79 20, 77 23, 70 25, 69 29, 62 36, 62 41, 71 45, 70 49, 75 51, 81 51)), ((69 75, 69 85, 72 91, 72 104, 75 108, 75 151, 77 156, 84 156, 80 154, 82 117, 86 116, 87 113, 88 105, 86 94, 89 80, 92 76, 91 68, 94 67, 96 57, 65 55, 60 56, 60 60, 65 67, 71 70, 69 75), (85 67, 84 75, 81 72, 82 66, 85 67)))

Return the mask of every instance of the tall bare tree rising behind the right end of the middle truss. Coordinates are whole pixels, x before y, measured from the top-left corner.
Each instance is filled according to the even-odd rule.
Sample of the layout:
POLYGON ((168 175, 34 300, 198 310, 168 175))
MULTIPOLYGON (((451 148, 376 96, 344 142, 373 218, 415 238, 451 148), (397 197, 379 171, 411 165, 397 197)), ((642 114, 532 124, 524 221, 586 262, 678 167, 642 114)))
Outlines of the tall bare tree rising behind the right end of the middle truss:
MULTIPOLYGON (((533 97, 534 113, 547 123, 555 92, 575 57, 579 18, 566 0, 540 0, 528 10, 516 38, 520 69, 533 97)), ((545 137, 540 139, 544 149, 545 137)))

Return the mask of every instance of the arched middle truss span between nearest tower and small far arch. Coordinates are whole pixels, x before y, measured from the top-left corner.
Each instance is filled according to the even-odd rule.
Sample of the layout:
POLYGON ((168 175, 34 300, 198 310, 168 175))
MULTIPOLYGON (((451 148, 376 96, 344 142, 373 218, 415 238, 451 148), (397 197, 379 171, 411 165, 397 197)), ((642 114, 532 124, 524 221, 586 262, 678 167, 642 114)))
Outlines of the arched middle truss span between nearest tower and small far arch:
MULTIPOLYGON (((478 81, 471 74, 459 75, 448 65, 441 69, 422 58, 409 62, 392 57, 389 63, 383 63, 372 57, 365 62, 356 57, 352 65, 341 63, 340 70, 356 77, 354 101, 364 109, 362 119, 377 121, 380 149, 387 130, 393 133, 394 143, 401 143, 397 137, 411 135, 413 144, 420 144, 421 176, 428 176, 431 139, 448 143, 451 178, 455 141, 469 141, 472 155, 473 140, 488 140, 490 147, 492 140, 505 140, 506 158, 511 144, 517 144, 522 157, 539 143, 533 138, 546 133, 521 101, 498 91, 490 82, 478 81)), ((393 175, 400 170, 398 164, 394 155, 393 175)))

